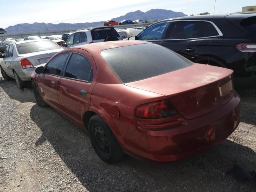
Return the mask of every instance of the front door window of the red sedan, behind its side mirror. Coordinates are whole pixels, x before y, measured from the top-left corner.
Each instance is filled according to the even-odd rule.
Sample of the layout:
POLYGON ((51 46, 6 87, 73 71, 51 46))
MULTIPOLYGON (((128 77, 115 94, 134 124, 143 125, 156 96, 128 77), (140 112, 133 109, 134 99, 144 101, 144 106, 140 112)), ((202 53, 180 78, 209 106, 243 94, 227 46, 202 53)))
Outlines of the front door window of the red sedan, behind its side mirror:
POLYGON ((64 52, 52 58, 46 65, 44 72, 60 76, 69 54, 69 52, 64 52))

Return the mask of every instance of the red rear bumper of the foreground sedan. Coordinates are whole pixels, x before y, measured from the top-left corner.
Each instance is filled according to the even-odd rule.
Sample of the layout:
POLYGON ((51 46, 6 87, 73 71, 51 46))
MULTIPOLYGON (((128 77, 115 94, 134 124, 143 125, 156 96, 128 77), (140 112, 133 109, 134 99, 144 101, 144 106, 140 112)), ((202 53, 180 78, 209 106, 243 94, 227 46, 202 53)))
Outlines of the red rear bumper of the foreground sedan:
MULTIPOLYGON (((138 130, 138 140, 121 144, 124 152, 140 160, 172 162, 200 154, 224 141, 240 122, 240 96, 204 116, 184 120, 166 130, 138 130), (212 133, 216 133, 212 137, 212 133)), ((138 128, 137 128, 138 129, 138 128)))

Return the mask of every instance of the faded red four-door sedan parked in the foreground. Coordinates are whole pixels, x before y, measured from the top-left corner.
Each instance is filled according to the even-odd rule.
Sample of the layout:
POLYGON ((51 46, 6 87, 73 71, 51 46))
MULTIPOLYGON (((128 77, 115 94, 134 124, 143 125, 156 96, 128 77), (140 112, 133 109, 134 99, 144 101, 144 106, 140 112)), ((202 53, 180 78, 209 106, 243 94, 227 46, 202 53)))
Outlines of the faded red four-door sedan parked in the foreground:
POLYGON ((32 74, 39 106, 83 129, 102 160, 124 153, 170 162, 225 140, 240 122, 232 70, 194 64, 160 45, 112 41, 68 48, 32 74))

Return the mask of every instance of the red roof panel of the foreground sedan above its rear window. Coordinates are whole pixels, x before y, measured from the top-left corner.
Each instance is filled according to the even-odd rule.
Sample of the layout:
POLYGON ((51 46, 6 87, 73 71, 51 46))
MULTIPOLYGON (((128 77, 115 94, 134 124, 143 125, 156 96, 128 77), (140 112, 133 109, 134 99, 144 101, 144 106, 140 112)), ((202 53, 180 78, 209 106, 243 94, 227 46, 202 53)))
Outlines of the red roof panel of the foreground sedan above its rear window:
POLYGON ((136 44, 144 44, 144 43, 151 43, 147 41, 140 41, 140 40, 127 40, 127 41, 108 41, 108 42, 98 42, 92 44, 84 44, 76 47, 71 47, 68 49, 79 48, 83 50, 88 50, 91 54, 97 54, 102 50, 112 49, 117 47, 129 46, 129 45, 136 45, 136 44))

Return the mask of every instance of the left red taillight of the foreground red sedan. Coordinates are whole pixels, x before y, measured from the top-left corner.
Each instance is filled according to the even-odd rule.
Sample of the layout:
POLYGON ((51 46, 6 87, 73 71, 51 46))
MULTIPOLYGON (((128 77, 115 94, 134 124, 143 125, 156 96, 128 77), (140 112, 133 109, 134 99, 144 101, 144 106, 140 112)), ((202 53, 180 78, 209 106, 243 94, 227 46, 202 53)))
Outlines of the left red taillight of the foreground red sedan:
POLYGON ((169 100, 143 104, 136 107, 134 110, 135 118, 141 119, 159 119, 176 114, 177 112, 169 100))

